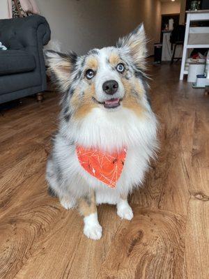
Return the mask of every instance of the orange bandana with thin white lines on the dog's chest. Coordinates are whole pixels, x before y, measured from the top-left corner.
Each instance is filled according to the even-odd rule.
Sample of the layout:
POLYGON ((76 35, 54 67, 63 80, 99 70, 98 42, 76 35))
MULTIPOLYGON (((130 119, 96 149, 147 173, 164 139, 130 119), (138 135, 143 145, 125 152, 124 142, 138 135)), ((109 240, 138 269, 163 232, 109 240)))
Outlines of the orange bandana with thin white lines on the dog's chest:
POLYGON ((82 146, 77 146, 76 151, 80 165, 88 174, 111 188, 116 187, 125 163, 125 148, 120 153, 111 154, 96 149, 85 149, 82 146))

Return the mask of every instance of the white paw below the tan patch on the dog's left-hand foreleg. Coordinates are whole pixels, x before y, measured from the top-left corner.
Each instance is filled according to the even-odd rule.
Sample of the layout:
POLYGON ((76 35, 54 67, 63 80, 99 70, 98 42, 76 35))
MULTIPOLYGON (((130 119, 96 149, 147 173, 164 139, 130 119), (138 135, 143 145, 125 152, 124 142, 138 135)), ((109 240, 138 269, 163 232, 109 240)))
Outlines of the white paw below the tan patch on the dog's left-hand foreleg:
POLYGON ((102 227, 96 213, 84 218, 84 234, 88 239, 98 240, 102 237, 102 227))

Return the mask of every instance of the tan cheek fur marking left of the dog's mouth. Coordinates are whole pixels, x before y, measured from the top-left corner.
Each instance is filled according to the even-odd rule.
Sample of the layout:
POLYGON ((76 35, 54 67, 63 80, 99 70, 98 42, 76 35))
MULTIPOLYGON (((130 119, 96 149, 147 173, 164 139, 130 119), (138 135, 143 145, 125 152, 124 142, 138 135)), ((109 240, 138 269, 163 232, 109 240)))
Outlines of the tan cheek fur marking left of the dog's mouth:
POLYGON ((94 84, 91 84, 91 86, 84 91, 84 96, 79 96, 79 89, 75 90, 72 99, 71 99, 71 105, 75 109, 75 119, 82 119, 91 112, 91 110, 94 107, 97 107, 98 105, 93 102, 92 97, 95 96, 95 86, 94 84))

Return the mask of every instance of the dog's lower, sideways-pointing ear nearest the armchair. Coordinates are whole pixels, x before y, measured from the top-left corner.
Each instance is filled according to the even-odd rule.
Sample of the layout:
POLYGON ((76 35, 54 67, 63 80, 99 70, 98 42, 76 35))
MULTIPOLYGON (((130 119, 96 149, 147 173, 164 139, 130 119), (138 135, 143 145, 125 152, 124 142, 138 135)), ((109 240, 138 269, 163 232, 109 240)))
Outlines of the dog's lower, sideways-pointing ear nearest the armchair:
POLYGON ((52 82, 59 86, 61 91, 68 90, 70 86, 70 74, 72 73, 77 54, 69 52, 63 54, 54 50, 45 50, 45 62, 49 67, 49 74, 52 76, 52 82))

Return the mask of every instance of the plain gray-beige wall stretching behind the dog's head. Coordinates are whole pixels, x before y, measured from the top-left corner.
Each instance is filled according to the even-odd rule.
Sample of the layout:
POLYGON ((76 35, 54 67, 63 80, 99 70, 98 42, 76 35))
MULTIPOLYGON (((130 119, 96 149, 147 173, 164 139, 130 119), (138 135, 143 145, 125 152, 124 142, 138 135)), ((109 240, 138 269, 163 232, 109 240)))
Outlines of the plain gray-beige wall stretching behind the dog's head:
POLYGON ((144 22, 148 48, 160 37, 159 0, 36 0, 63 50, 84 54, 93 47, 113 45, 119 36, 144 22))

